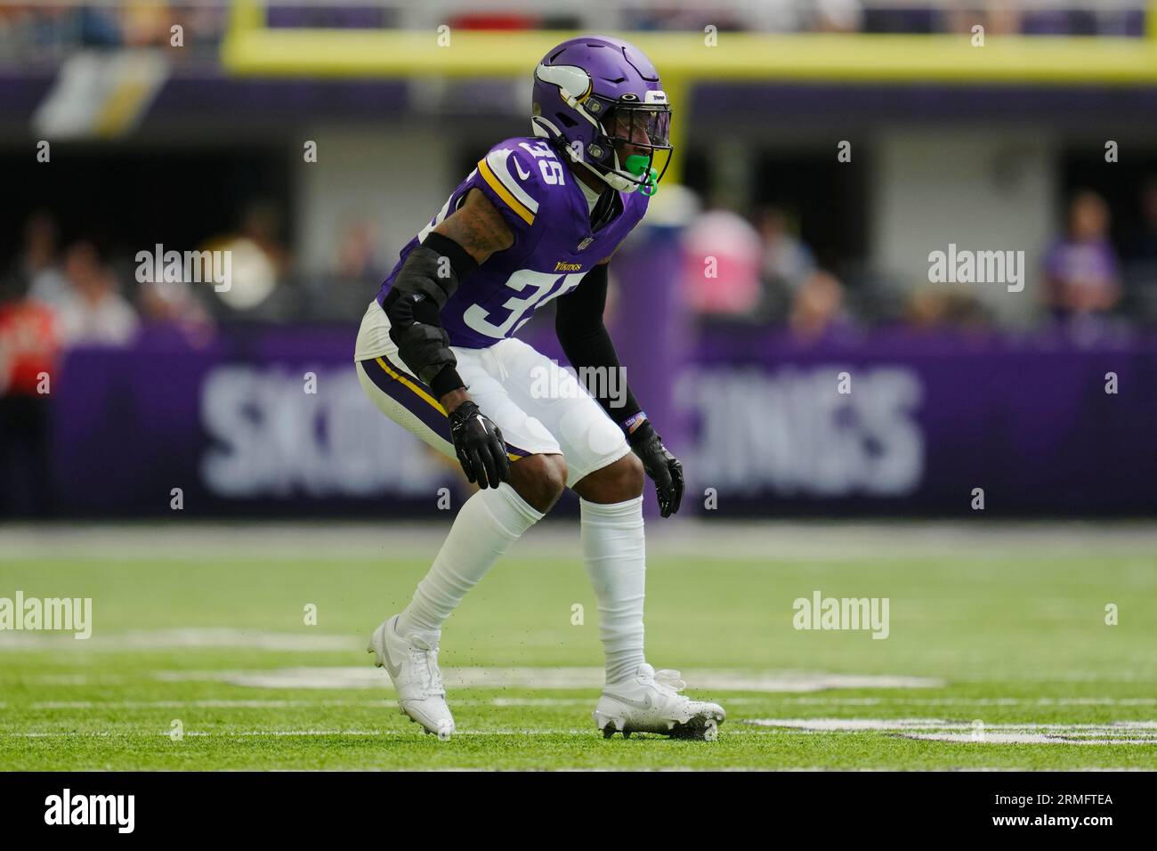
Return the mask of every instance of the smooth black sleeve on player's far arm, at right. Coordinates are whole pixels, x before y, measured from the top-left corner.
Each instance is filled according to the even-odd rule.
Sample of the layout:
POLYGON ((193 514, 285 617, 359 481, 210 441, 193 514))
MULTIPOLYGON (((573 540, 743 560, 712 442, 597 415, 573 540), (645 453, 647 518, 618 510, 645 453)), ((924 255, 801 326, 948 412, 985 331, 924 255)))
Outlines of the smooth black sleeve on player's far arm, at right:
MULTIPOLYGON (((603 367, 610 375, 612 371, 619 371, 621 367, 611 335, 603 324, 603 310, 606 307, 606 265, 603 263, 595 266, 577 287, 557 299, 554 331, 570 366, 575 369, 603 367)), ((617 374, 621 375, 619 372, 617 374)), ((619 387, 614 381, 606 379, 594 383, 597 386, 587 389, 619 426, 642 410, 631 393, 629 384, 626 386, 625 396, 616 399, 607 394, 607 390, 619 387)))

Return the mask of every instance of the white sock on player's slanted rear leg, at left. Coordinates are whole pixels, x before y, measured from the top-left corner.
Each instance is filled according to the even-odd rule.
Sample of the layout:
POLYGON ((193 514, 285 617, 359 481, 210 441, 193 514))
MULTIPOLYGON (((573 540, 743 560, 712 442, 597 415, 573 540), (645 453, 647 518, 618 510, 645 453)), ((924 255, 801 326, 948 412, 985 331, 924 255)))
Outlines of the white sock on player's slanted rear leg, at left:
POLYGON ((466 592, 522 537, 543 513, 535 511, 506 482, 480 490, 465 501, 429 573, 398 618, 398 634, 442 631, 466 592))

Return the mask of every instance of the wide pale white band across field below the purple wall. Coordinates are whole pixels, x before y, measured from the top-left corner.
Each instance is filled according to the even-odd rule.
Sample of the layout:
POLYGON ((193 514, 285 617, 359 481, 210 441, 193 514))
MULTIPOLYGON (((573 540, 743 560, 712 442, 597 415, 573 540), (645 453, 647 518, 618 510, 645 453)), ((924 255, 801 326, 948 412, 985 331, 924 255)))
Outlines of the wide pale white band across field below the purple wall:
MULTIPOLYGON (((538 523, 516 542, 514 558, 540 556, 570 558, 582 553, 575 529, 577 519, 538 523)), ((66 557, 94 562, 191 562, 199 558, 243 557, 250 560, 283 562, 325 558, 348 560, 360 557, 428 559, 445 540, 445 522, 390 524, 366 522, 246 522, 246 523, 148 523, 73 524, 37 527, 5 524, 0 550, 9 558, 44 559, 66 557)), ((936 557, 952 560, 987 559, 1014 555, 1047 558, 1097 555, 1148 557, 1157 546, 1157 523, 1141 522, 1001 522, 977 526, 950 521, 725 521, 677 518, 648 526, 648 553, 656 558, 709 555, 712 558, 759 558, 768 556, 774 541, 776 559, 861 559, 936 557), (983 551, 978 555, 978 548, 983 551), (854 553, 854 555, 849 555, 854 553)))

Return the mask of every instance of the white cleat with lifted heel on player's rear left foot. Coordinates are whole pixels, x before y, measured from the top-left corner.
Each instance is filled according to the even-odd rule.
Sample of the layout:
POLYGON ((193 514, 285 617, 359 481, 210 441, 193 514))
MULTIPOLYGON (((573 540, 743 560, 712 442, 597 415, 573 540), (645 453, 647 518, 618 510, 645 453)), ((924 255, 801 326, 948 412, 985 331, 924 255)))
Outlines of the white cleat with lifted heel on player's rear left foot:
POLYGON ((389 672, 398 692, 398 711, 445 741, 454 735, 454 716, 445 705, 437 641, 432 645, 420 634, 403 638, 397 623, 398 615, 383 621, 374 630, 366 652, 374 654, 374 665, 389 672))

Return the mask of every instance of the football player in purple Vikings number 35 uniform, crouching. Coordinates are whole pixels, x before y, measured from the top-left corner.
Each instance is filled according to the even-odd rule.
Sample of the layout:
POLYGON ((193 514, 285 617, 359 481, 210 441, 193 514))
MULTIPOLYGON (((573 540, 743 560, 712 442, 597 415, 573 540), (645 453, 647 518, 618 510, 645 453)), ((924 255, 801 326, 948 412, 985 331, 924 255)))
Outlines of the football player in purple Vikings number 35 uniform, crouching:
POLYGON ((714 739, 724 718, 643 654, 643 475, 670 516, 683 498, 679 461, 629 387, 625 405, 596 398, 514 336, 555 301, 572 367, 620 368, 603 324, 607 262, 657 191, 670 119, 658 73, 638 49, 602 36, 558 45, 535 69, 533 135, 479 160, 401 250, 362 321, 354 358, 366 393, 479 486, 410 604, 369 646, 400 711, 440 738, 454 733, 437 666, 442 624, 563 487, 580 497, 598 600, 599 729, 714 739), (544 386, 555 391, 533 390, 544 386))

